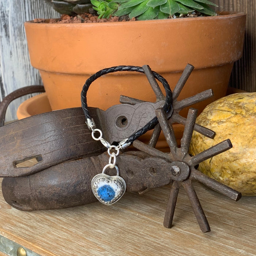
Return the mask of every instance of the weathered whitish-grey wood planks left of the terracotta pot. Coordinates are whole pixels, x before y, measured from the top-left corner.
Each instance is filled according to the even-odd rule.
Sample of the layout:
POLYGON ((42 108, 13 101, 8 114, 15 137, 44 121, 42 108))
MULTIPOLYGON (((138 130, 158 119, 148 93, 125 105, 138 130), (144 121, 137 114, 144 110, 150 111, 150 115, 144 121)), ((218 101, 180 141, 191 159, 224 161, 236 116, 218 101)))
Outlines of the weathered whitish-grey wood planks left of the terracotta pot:
MULTIPOLYGON (((58 16, 42 0, 0 0, 0 101, 20 87, 42 84, 39 72, 30 64, 23 23, 38 17, 58 16)), ((16 110, 28 97, 31 95, 16 99, 10 105, 7 121, 17 119, 16 110)))

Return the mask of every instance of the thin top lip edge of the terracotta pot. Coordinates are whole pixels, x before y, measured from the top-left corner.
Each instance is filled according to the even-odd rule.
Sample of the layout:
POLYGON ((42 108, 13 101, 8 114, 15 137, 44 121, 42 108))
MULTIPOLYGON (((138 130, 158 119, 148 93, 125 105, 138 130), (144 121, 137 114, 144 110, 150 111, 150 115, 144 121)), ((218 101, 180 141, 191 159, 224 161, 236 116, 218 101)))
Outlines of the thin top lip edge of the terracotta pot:
MULTIPOLYGON (((245 12, 230 12, 230 11, 222 11, 222 12, 218 12, 219 15, 216 16, 200 16, 200 17, 190 17, 190 18, 176 18, 176 19, 154 19, 154 20, 136 20, 136 23, 140 24, 140 23, 150 23, 150 24, 154 24, 154 23, 167 23, 167 22, 183 22, 184 20, 186 21, 198 21, 198 20, 212 20, 212 19, 227 19, 227 18, 233 18, 233 17, 237 17, 237 16, 244 16, 246 15, 245 12)), ((78 26, 84 26, 86 24, 86 26, 109 26, 111 24, 111 26, 124 26, 124 25, 133 25, 133 22, 95 22, 95 23, 49 23, 50 19, 45 19, 46 22, 42 22, 42 23, 35 23, 33 20, 28 20, 26 21, 24 24, 26 24, 27 26, 74 26, 74 27, 78 27, 78 26), (96 25, 97 24, 97 25, 96 25)), ((58 19, 55 19, 58 20, 58 19)))

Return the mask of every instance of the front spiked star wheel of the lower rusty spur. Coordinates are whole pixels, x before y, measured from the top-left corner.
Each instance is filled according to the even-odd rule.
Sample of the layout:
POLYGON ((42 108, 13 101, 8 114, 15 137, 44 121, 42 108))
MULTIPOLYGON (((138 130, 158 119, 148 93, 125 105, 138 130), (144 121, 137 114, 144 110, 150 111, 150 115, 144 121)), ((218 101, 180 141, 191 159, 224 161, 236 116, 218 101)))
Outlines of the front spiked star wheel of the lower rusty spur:
POLYGON ((169 124, 165 112, 162 109, 157 109, 156 114, 159 124, 165 135, 166 142, 170 147, 170 153, 163 153, 155 149, 154 147, 150 147, 149 145, 140 142, 139 140, 135 140, 133 142, 133 146, 152 156, 160 157, 170 162, 170 172, 173 176, 173 184, 170 190, 170 196, 167 203, 167 209, 165 212, 163 225, 167 228, 172 227, 178 191, 180 186, 182 185, 187 192, 202 232, 209 232, 210 226, 199 202, 199 199, 196 195, 195 189, 193 188, 192 180, 197 180, 206 185, 207 187, 210 187, 215 191, 218 191, 223 195, 226 195, 236 201, 241 198, 241 193, 204 175, 203 173, 196 170, 194 166, 208 158, 214 157, 215 155, 218 155, 228 150, 232 147, 232 144, 230 140, 227 139, 211 148, 208 148, 200 154, 191 157, 188 154, 188 150, 192 138, 193 129, 195 126, 197 110, 192 108, 189 109, 180 148, 177 146, 173 127, 169 124))

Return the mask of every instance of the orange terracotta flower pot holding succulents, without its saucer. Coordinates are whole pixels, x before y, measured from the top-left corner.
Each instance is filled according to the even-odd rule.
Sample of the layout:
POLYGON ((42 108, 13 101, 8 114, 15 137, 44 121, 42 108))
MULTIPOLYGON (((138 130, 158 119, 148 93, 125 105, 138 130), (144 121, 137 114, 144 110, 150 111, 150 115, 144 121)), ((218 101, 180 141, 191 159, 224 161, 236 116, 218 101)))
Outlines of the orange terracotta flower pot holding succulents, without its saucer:
MULTIPOLYGON (((173 89, 190 63, 195 69, 180 99, 213 89, 213 98, 193 106, 201 112, 226 94, 233 63, 242 55, 245 19, 243 13, 223 13, 116 23, 26 22, 25 29, 31 64, 40 71, 53 110, 80 106, 84 82, 100 69, 148 64, 173 89)), ((120 94, 155 100, 143 74, 117 72, 93 82, 88 105, 105 110, 119 103, 120 94)))

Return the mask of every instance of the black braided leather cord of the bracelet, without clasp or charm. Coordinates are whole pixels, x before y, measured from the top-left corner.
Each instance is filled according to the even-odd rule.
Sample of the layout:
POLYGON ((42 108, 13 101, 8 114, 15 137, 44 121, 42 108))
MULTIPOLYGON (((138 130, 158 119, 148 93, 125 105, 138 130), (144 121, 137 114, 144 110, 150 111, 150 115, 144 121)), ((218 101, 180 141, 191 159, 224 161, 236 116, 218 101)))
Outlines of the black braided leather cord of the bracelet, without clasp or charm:
MULTIPOLYGON (((142 67, 136 67, 136 66, 117 66, 117 67, 111 67, 111 68, 105 68, 94 75, 92 75, 90 78, 88 78, 83 86, 82 92, 81 92, 81 102, 82 102, 82 109, 84 112, 84 115, 87 118, 91 119, 90 112, 88 110, 87 106, 87 99, 86 99, 86 94, 89 89, 89 86, 91 83, 99 78, 102 75, 106 75, 108 73, 113 73, 117 71, 135 71, 135 72, 140 72, 144 73, 142 67)), ((170 89, 170 86, 168 82, 166 81, 165 78, 163 78, 161 75, 159 75, 157 72, 152 71, 154 77, 163 84, 163 87, 166 92, 166 97, 165 97, 165 104, 163 105, 163 110, 166 113, 172 112, 173 111, 173 106, 172 106, 172 91, 170 89)), ((147 131, 151 130, 154 128, 154 126, 158 123, 158 119, 155 116, 152 120, 150 120, 144 127, 140 128, 137 132, 133 133, 127 140, 127 143, 133 142, 134 140, 138 139, 139 136, 143 135, 147 131)))

